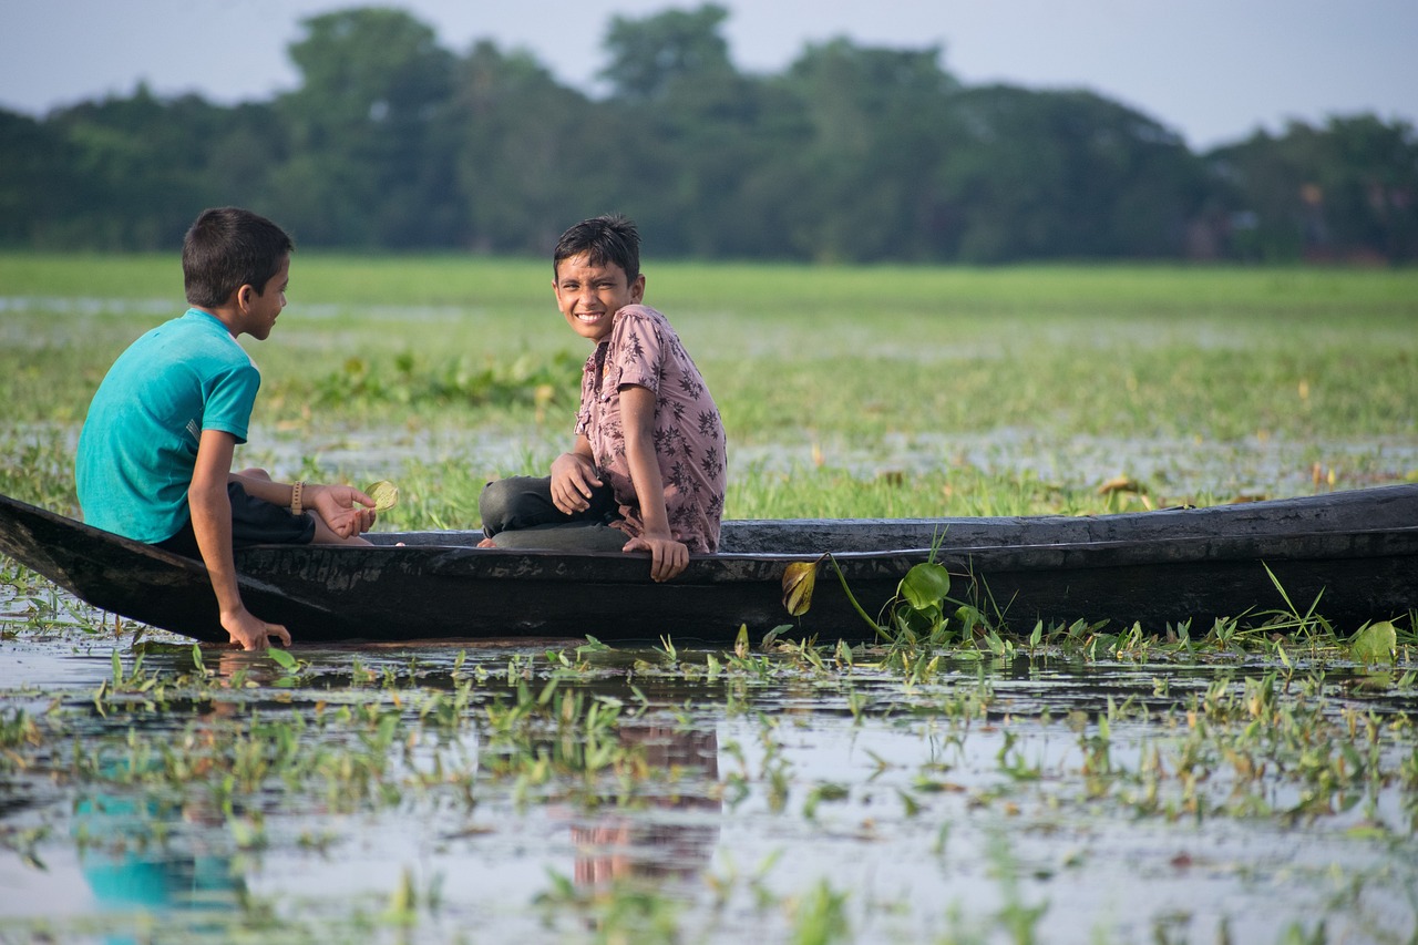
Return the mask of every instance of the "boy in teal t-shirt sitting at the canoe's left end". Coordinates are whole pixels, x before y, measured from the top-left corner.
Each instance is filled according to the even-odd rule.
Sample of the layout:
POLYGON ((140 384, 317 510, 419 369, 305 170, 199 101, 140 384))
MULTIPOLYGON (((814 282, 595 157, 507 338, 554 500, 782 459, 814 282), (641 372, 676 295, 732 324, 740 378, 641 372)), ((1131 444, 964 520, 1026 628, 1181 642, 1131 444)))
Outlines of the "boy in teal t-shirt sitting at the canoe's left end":
POLYGON ((261 470, 231 471, 261 385, 237 336, 271 333, 294 248, 281 227, 248 210, 197 217, 182 251, 191 308, 113 362, 89 404, 75 460, 85 521, 201 558, 221 626, 247 650, 264 650, 269 637, 289 644, 291 634, 241 603, 233 548, 364 543, 359 534, 374 522, 374 501, 347 485, 285 485, 261 470))

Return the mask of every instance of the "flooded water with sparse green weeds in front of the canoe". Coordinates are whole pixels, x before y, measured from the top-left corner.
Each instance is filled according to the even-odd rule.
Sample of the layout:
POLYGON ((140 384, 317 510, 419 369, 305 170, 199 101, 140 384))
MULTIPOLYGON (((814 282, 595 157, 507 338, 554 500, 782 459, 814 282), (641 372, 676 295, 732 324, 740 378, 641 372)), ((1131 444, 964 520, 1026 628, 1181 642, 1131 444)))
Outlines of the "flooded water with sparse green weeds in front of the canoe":
POLYGON ((43 586, 3 609, 0 941, 1418 932, 1407 651, 277 661, 130 647, 43 586))

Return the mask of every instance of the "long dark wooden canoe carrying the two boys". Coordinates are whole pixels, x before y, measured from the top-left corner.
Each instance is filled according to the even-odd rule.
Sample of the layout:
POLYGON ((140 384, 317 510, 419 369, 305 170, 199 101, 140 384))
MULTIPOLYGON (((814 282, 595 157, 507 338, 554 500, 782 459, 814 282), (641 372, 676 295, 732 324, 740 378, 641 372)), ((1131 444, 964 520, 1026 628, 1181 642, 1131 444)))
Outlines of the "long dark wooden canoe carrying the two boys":
MULTIPOLYGON (((1191 620, 1205 630, 1218 617, 1283 610, 1276 583, 1300 610, 1317 600, 1316 613, 1339 629, 1418 607, 1418 485, 1078 518, 735 521, 725 522, 720 553, 693 556, 664 585, 638 555, 479 549, 476 531, 370 538, 373 548, 238 552, 247 606, 299 643, 586 634, 732 643, 740 624, 859 640, 872 630, 831 566, 820 568, 808 613, 788 616, 787 565, 831 552, 875 614, 939 543, 951 597, 1020 633, 1037 620, 1079 619, 1157 631, 1191 620)), ((0 553, 102 610, 227 640, 201 562, 6 497, 0 553)))

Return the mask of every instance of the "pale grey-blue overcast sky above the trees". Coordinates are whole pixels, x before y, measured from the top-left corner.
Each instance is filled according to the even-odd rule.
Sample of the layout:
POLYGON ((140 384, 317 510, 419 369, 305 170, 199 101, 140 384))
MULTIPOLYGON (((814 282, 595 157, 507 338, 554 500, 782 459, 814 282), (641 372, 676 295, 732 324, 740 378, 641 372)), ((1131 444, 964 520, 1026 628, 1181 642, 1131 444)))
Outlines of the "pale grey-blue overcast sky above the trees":
MULTIPOLYGON (((1195 149, 1286 119, 1375 112, 1418 123, 1418 0, 719 0, 735 64, 777 72, 808 43, 944 48, 967 84, 1089 88, 1181 132, 1195 149)), ((0 106, 196 91, 268 99, 298 81, 286 47, 330 0, 0 0, 0 106)), ((390 0, 465 52, 526 48, 597 91, 611 16, 668 0, 390 0)))

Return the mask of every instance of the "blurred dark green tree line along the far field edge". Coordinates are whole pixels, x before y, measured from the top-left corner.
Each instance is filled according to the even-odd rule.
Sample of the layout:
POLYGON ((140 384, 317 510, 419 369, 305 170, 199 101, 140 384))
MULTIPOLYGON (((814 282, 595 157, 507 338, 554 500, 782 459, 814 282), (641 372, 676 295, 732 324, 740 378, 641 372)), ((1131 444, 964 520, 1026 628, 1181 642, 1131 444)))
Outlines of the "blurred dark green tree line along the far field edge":
POLYGON ((810 261, 1418 258, 1418 138, 1333 116, 1194 153, 1088 91, 966 85, 939 48, 813 44, 736 70, 727 10, 614 17, 608 94, 408 13, 302 21, 301 82, 234 106, 139 85, 0 111, 0 245, 170 250, 241 204, 302 245, 545 254, 620 210, 657 257, 810 261))

